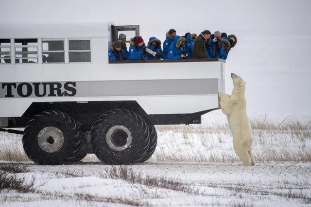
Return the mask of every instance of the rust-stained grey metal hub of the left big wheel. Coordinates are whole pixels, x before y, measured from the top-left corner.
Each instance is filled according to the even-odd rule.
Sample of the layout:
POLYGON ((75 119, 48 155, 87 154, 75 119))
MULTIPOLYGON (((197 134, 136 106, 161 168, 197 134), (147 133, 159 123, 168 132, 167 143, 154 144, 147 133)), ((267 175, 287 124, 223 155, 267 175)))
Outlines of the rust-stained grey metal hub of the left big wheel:
POLYGON ((64 144, 64 134, 56 127, 45 127, 38 134, 38 144, 45 152, 56 152, 64 144))

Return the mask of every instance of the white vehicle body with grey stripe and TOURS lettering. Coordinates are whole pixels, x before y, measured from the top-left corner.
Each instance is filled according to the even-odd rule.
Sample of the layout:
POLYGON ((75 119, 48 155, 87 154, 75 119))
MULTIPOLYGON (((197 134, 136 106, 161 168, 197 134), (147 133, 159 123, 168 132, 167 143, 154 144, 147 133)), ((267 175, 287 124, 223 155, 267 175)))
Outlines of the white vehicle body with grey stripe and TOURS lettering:
POLYGON ((33 103, 41 102, 136 101, 147 115, 219 108, 218 94, 225 89, 225 61, 109 64, 111 24, 1 25, 0 39, 11 40, 11 63, 0 64, 0 127, 10 127, 10 118, 22 117, 33 103), (17 38, 37 39, 37 63, 15 63, 17 38), (43 63, 42 41, 50 39, 64 41, 64 63, 43 63), (90 40, 90 62, 69 62, 69 40, 90 40), (55 82, 61 84, 60 92, 55 88, 56 96, 49 96, 55 82), (34 83, 45 96, 35 96, 34 83), (76 91, 74 96, 64 89, 66 83, 76 91))

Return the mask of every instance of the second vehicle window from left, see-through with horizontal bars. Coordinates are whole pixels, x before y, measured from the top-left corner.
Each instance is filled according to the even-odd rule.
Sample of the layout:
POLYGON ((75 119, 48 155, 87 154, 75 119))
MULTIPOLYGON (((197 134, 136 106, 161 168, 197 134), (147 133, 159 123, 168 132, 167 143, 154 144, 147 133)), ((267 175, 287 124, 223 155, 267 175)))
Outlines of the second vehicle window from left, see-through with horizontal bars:
POLYGON ((37 39, 15 39, 15 62, 37 63, 38 62, 38 40, 37 39))

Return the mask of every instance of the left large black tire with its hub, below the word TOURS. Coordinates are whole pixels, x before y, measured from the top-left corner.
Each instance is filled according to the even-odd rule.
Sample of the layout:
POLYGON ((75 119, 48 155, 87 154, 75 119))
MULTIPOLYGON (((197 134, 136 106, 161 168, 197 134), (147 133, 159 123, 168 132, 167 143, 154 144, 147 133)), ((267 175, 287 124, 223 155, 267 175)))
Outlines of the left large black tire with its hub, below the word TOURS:
POLYGON ((58 165, 74 160, 81 148, 80 123, 61 111, 44 111, 27 123, 23 147, 37 164, 58 165))

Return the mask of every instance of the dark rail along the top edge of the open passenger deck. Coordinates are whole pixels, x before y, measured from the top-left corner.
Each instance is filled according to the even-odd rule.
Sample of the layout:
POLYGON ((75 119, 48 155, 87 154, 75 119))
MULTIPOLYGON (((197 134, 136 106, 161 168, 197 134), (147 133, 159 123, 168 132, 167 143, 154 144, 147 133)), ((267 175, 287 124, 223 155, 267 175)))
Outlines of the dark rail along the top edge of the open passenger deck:
POLYGON ((218 58, 204 58, 204 59, 179 59, 179 60, 122 60, 122 61, 109 61, 109 64, 124 64, 124 63, 189 63, 189 62, 221 62, 225 63, 225 60, 218 58))

